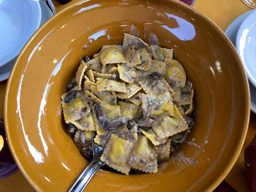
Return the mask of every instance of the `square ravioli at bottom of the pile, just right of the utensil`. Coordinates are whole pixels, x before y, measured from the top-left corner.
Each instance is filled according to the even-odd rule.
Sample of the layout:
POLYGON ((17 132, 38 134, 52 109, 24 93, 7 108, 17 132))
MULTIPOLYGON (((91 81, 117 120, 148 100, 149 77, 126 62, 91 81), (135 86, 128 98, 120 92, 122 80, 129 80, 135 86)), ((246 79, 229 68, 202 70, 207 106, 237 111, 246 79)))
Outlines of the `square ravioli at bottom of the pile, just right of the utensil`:
POLYGON ((119 138, 111 134, 100 160, 111 168, 129 175, 130 167, 127 166, 129 155, 132 151, 134 143, 119 138))

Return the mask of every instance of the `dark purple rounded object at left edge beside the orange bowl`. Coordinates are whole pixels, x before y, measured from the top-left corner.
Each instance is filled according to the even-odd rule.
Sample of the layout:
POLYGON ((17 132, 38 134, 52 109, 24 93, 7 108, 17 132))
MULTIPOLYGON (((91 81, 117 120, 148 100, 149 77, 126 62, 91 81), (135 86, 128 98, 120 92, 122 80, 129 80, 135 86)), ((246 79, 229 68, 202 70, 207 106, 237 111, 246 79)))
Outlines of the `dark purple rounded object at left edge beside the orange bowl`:
POLYGON ((15 174, 19 169, 7 145, 3 119, 0 119, 0 135, 4 139, 3 148, 0 149, 0 179, 2 179, 15 174))

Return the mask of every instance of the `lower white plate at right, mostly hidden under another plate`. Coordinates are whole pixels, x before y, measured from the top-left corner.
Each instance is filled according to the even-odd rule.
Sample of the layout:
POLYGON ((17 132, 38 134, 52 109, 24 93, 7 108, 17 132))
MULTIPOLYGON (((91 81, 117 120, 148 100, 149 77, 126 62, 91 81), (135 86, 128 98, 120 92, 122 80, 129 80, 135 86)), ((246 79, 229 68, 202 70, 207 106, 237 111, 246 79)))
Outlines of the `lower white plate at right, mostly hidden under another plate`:
MULTIPOLYGON (((230 39, 230 41, 236 45, 236 36, 238 29, 244 19, 250 15, 254 10, 248 11, 243 15, 237 17, 226 29, 225 34, 230 39)), ((251 97, 251 111, 256 113, 256 88, 249 82, 250 86, 250 97, 251 97)))

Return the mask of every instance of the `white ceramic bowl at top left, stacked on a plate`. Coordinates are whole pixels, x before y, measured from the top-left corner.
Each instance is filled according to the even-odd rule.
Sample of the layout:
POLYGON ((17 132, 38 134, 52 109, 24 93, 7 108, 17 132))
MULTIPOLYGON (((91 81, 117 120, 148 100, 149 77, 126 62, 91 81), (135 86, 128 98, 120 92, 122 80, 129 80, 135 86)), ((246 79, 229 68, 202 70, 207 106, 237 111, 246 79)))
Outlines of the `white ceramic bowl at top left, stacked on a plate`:
POLYGON ((39 28, 41 7, 32 0, 0 0, 0 67, 17 57, 39 28))

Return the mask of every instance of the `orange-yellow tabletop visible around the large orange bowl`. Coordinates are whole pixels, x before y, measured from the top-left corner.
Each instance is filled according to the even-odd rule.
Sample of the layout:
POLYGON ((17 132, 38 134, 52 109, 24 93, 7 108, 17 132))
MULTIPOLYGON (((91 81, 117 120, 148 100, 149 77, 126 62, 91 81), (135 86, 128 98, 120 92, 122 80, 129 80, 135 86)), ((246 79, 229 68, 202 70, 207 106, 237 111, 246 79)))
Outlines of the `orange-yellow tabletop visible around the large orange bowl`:
MULTIPOLYGON (((60 11, 63 8, 75 3, 78 0, 72 0, 66 5, 60 4, 57 0, 52 0, 56 11, 60 11)), ((251 8, 246 6, 242 0, 196 0, 194 9, 203 13, 205 16, 210 18, 215 24, 223 31, 228 25, 237 17, 243 13, 250 11, 251 8)), ((0 82, 0 119, 3 118, 4 108, 4 96, 7 81, 0 82)), ((247 136, 244 142, 243 149, 238 157, 237 162, 231 169, 225 180, 233 186, 238 192, 249 191, 245 183, 245 169, 243 166, 244 149, 250 143, 253 136, 256 133, 256 115, 251 112, 250 123, 247 132, 247 136)), ((0 192, 35 192, 32 186, 29 185, 25 177, 20 171, 17 171, 14 175, 5 179, 0 179, 0 192)))

